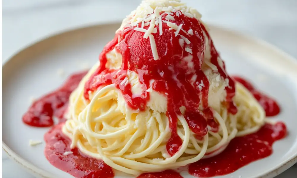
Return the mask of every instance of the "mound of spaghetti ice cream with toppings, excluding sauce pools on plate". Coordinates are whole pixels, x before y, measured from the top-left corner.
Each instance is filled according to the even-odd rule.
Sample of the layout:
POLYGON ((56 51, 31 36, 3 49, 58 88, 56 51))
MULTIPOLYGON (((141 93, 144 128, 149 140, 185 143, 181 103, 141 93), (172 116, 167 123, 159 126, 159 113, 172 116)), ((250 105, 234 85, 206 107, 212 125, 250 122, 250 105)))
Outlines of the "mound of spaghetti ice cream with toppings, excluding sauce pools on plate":
POLYGON ((70 96, 71 147, 128 174, 174 169, 256 132, 265 112, 180 1, 143 1, 70 96))

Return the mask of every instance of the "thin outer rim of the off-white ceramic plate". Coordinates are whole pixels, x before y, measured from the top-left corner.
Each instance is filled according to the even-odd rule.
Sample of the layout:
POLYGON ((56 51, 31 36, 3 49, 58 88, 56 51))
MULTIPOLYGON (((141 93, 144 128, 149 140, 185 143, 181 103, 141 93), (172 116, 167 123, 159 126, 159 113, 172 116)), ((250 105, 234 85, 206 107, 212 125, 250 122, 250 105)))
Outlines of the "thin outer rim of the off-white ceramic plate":
MULTIPOLYGON (((7 63, 9 63, 11 61, 11 59, 15 58, 15 56, 17 56, 18 54, 20 54, 21 52, 25 51, 27 48, 32 47, 34 45, 37 45, 40 42, 43 42, 47 39, 50 39, 52 37, 55 36, 59 36, 59 35, 63 35, 65 33, 69 33, 72 31, 79 31, 79 30, 83 30, 84 28, 94 28, 94 27, 100 27, 100 26, 108 26, 108 25, 116 25, 116 24, 120 24, 121 22, 118 20, 114 20, 114 21, 110 21, 110 22, 105 22, 105 23, 91 23, 91 24, 85 24, 82 26, 75 26, 75 27, 70 27, 70 28, 66 28, 60 31, 56 31, 53 33, 50 33, 40 39, 34 40, 30 43, 28 43, 27 45, 23 46, 22 48, 20 48, 19 50, 15 51, 15 53, 12 53, 12 55, 10 55, 5 61, 4 63, 2 63, 2 69, 7 65, 7 63)), ((219 31, 225 31, 227 33, 231 33, 235 36, 240 36, 244 39, 250 40, 255 44, 258 44, 260 46, 263 46, 265 48, 268 48, 270 50, 274 50, 275 53, 278 53, 280 55, 285 56, 285 60, 287 60, 287 62, 290 62, 293 65, 296 65, 297 67, 297 59, 294 58, 292 55, 286 53, 284 50, 279 49, 278 47, 262 40, 259 38, 255 38, 253 36, 249 36, 246 34, 242 34, 238 31, 234 31, 230 28, 225 28, 222 26, 217 26, 214 24, 207 24, 210 28, 216 28, 219 31)), ((27 172, 29 172, 30 174, 33 174, 34 176, 37 177, 43 177, 43 178, 53 178, 55 177, 53 174, 51 174, 48 171, 45 171, 37 166, 34 166, 32 163, 29 163, 27 160, 25 160, 24 158, 22 158, 20 155, 18 155, 17 153, 15 153, 10 147, 7 146, 7 144, 5 144, 5 142, 2 140, 2 149, 7 153, 8 157, 12 160, 14 160, 16 163, 18 163, 19 165, 21 165, 21 167, 23 169, 25 169, 27 172)), ((261 178, 271 178, 271 177, 275 177, 279 174, 281 174, 282 172, 284 172, 285 170, 289 169, 291 166, 293 166, 295 163, 297 163, 297 152, 292 154, 289 158, 287 158, 286 160, 280 162, 279 164, 277 164, 274 168, 268 169, 266 171, 263 171, 261 174, 257 175, 258 177, 261 178)))

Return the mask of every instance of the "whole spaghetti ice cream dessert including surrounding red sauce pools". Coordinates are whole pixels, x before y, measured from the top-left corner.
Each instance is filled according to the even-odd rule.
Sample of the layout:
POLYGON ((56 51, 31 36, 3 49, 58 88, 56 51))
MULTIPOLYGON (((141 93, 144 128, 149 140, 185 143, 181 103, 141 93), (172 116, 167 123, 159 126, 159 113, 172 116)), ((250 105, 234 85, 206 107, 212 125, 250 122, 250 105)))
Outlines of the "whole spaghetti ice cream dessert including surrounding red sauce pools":
POLYGON ((230 77, 200 18, 178 0, 143 1, 91 70, 34 101, 23 122, 53 126, 48 161, 77 178, 180 178, 172 169, 212 177, 271 155, 287 134, 266 119, 279 105, 230 77))

